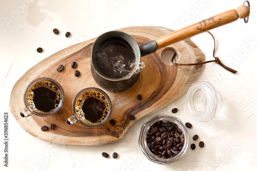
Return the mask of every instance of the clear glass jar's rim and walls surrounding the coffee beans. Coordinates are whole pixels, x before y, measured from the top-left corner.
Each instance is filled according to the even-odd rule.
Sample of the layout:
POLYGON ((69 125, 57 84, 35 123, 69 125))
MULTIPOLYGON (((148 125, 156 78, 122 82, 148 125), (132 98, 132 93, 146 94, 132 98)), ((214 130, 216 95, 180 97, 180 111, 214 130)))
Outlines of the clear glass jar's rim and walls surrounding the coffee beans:
POLYGON ((152 119, 146 121, 142 125, 138 144, 139 144, 141 150, 143 151, 143 154, 150 161, 158 163, 158 164, 171 164, 171 163, 178 161, 186 154, 186 151, 188 149, 188 144, 189 144, 189 134, 188 134, 187 128, 183 125, 183 123, 178 118, 161 114, 161 115, 157 115, 157 116, 153 117, 152 119), (177 124, 178 128, 180 128, 182 130, 184 138, 185 138, 185 142, 183 144, 183 148, 181 149, 180 153, 169 159, 162 159, 159 156, 153 154, 152 151, 149 149, 148 145, 146 144, 146 135, 147 135, 147 132, 149 131, 149 129, 151 128, 151 126, 156 122, 165 121, 165 120, 171 121, 171 122, 174 122, 175 124, 177 124))

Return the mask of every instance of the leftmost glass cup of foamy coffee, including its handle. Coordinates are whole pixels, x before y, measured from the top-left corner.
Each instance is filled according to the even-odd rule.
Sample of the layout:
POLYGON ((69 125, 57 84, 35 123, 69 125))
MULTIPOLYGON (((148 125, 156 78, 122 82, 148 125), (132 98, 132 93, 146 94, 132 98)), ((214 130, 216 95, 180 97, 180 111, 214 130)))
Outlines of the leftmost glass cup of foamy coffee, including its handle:
POLYGON ((36 115, 46 117, 57 113, 64 103, 64 92, 60 84, 50 78, 39 78, 26 87, 24 92, 26 108, 22 117, 36 115))

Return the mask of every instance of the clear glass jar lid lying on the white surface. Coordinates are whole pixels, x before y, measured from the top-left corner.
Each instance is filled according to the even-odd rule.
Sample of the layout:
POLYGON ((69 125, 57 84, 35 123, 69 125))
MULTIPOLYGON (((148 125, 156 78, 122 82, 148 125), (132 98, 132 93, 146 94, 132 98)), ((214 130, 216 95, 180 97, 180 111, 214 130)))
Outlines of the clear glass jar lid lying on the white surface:
POLYGON ((223 105, 221 93, 205 81, 191 85, 187 92, 186 102, 189 115, 201 122, 211 120, 223 105))

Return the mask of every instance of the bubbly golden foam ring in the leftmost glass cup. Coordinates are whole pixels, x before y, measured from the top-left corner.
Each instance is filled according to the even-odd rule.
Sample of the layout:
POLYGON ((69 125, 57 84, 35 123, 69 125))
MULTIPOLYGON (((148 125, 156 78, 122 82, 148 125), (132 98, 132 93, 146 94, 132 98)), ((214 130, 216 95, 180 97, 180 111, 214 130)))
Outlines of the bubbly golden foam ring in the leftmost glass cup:
POLYGON ((36 83, 33 83, 33 85, 31 86, 31 88, 28 90, 28 93, 27 93, 27 101, 28 101, 28 104, 30 106, 30 108, 36 112, 36 113, 39 113, 39 114, 48 114, 50 112, 52 112, 54 109, 56 109, 61 101, 61 98, 62 98, 62 94, 61 94, 61 91, 60 89, 58 88, 58 86, 56 86, 55 84, 53 84, 51 81, 39 81, 39 82, 36 82, 36 83), (49 90, 53 91, 53 92, 56 92, 57 94, 57 97, 56 97, 56 101, 54 103, 54 108, 52 110, 50 110, 49 112, 44 112, 42 110, 39 110, 35 107, 35 104, 33 102, 33 99, 34 99, 34 90, 36 88, 40 88, 40 87, 45 87, 45 88, 48 88, 49 90), (58 103, 56 103, 58 102, 58 103))

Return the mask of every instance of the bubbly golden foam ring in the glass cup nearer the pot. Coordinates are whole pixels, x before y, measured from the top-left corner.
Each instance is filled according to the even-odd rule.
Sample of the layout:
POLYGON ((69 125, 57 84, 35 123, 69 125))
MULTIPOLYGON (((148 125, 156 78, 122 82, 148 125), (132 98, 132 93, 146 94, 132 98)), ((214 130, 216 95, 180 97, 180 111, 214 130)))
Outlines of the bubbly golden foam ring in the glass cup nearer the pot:
POLYGON ((82 93, 79 98, 76 101, 75 104, 75 110, 76 110, 76 115, 77 117, 80 119, 80 121, 86 123, 86 124, 90 124, 90 125, 94 125, 94 124, 98 124, 101 123, 107 116, 108 112, 109 112, 109 103, 108 100, 106 99, 106 97, 99 91, 95 91, 95 90, 90 90, 90 91, 86 91, 84 93, 82 93), (85 102, 86 99, 88 98, 94 98, 99 100, 100 102, 103 102, 105 105, 105 109, 103 110, 103 116, 101 119, 99 119, 97 122, 90 122, 85 118, 85 113, 82 110, 82 106, 85 102))

